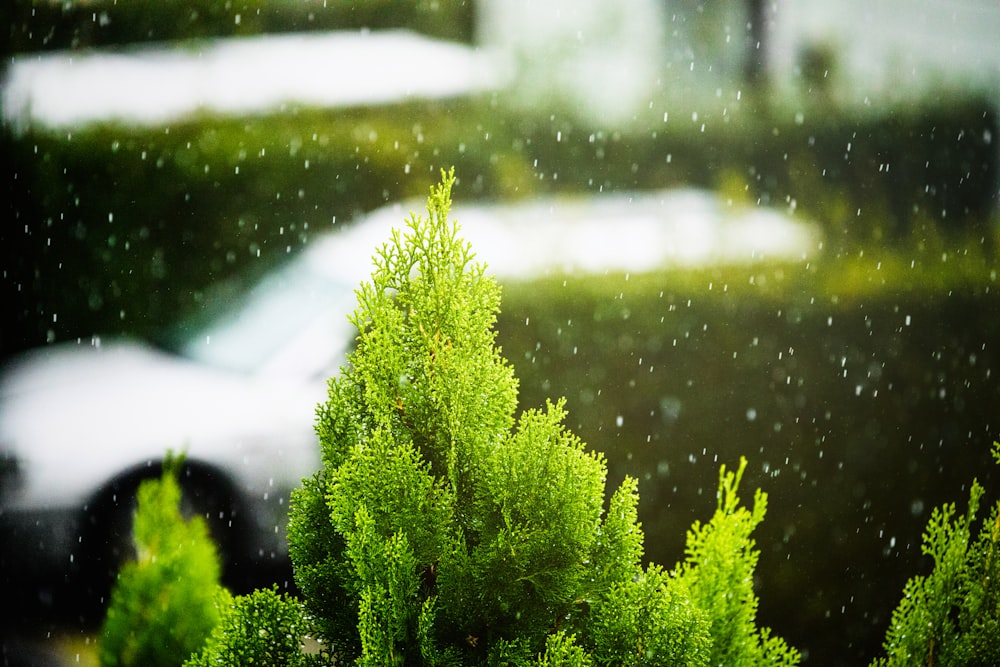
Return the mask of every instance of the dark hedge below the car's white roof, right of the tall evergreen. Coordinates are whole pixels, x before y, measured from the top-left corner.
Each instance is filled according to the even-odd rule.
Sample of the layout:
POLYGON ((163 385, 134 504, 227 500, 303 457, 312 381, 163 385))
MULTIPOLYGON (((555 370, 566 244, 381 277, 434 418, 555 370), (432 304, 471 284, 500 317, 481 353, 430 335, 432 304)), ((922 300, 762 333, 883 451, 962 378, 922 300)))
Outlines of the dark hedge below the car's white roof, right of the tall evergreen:
POLYGON ((984 506, 998 499, 1000 467, 983 462, 1000 405, 998 280, 981 258, 885 248, 559 276, 504 285, 497 339, 522 405, 565 395, 610 482, 638 477, 655 562, 711 510, 717 461, 748 456, 744 483, 771 496, 761 622, 816 659, 861 665, 928 569, 931 508, 967 497, 973 477, 984 506))

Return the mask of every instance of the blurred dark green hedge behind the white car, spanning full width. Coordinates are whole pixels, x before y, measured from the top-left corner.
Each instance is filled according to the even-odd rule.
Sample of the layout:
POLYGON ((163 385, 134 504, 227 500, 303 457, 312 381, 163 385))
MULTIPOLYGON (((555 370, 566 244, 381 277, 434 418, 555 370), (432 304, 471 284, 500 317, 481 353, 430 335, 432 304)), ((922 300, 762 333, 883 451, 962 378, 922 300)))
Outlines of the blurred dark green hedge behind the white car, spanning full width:
POLYGON ((5 132, 3 352, 102 333, 150 337, 205 288, 259 274, 309 238, 421 197, 457 167, 456 197, 696 186, 824 227, 826 252, 885 244, 993 252, 996 113, 928 102, 857 119, 743 109, 725 119, 589 127, 496 95, 378 108, 201 116, 168 127, 5 132))

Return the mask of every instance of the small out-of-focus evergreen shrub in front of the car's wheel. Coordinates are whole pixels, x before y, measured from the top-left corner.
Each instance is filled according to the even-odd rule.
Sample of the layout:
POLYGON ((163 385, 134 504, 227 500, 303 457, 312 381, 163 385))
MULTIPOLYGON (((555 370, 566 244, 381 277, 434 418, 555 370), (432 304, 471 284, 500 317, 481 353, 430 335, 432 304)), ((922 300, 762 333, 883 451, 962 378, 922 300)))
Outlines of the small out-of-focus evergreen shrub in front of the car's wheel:
POLYGON ((177 665, 199 649, 219 614, 219 557, 202 517, 180 513, 180 459, 168 456, 160 479, 139 486, 134 539, 111 592, 101 630, 101 665, 177 665))

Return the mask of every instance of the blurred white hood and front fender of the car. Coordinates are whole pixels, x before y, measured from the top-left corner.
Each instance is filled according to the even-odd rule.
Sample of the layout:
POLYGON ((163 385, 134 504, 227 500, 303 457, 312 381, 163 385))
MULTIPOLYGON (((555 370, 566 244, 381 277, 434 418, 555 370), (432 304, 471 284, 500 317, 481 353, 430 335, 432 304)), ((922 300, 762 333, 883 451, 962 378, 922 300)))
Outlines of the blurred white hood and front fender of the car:
POLYGON ((241 491, 296 486, 318 465, 321 387, 200 366, 137 341, 37 350, 0 378, 0 439, 13 445, 20 508, 82 507, 168 450, 210 462, 241 491))

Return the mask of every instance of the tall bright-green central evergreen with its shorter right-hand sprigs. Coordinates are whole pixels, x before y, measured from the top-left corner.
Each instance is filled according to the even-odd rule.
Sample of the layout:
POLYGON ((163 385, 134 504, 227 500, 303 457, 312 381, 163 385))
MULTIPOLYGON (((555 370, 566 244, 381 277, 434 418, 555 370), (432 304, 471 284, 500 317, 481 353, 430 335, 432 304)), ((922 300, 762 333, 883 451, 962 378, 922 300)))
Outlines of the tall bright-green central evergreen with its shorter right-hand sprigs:
POLYGON ((563 402, 515 417, 500 288, 448 220, 443 177, 357 291, 357 349, 318 409, 324 465, 293 496, 296 582, 329 659, 794 664, 754 625, 749 533, 766 501, 739 507, 745 462, 667 573, 642 566, 635 480, 605 511, 604 459, 564 427, 563 402))

